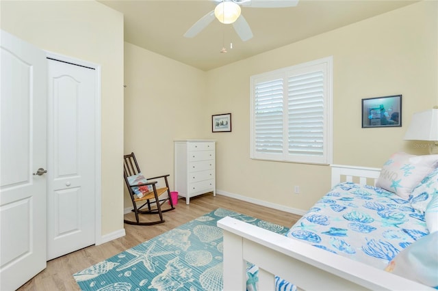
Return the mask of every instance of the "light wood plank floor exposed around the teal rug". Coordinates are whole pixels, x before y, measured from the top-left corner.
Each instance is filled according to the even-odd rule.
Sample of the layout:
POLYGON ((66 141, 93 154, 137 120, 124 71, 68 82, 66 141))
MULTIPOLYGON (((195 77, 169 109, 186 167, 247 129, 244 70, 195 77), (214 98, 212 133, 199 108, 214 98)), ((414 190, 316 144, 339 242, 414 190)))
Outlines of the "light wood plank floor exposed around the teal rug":
MULTIPOLYGON (((212 193, 193 197, 190 199, 189 205, 185 204, 185 199, 179 199, 175 208, 175 210, 164 213, 164 219, 166 220, 164 223, 152 226, 128 225, 125 223, 126 236, 123 238, 99 246, 86 247, 47 262, 47 268, 44 271, 27 281, 18 290, 79 290, 79 286, 77 286, 72 276, 74 273, 134 247, 145 240, 172 230, 216 208, 227 208, 286 227, 292 226, 300 218, 300 215, 297 214, 274 210, 222 195, 214 197, 212 193)), ((127 216, 129 215, 131 214, 127 214, 127 216)))

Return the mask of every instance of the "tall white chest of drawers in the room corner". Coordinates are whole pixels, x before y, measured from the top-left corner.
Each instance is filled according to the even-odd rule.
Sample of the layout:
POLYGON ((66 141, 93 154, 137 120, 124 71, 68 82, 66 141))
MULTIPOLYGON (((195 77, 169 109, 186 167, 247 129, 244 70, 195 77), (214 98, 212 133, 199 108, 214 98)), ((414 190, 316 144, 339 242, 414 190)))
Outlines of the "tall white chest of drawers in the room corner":
POLYGON ((175 141, 175 191, 185 197, 213 192, 216 196, 216 141, 187 139, 175 141))

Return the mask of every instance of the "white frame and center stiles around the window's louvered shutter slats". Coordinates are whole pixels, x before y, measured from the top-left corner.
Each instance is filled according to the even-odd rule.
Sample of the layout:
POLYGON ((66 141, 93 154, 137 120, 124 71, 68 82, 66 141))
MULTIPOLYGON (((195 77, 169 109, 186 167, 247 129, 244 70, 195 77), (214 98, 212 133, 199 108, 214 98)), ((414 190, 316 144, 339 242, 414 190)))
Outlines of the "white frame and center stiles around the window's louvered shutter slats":
POLYGON ((250 77, 250 158, 263 161, 282 161, 288 163, 309 163, 329 165, 333 163, 333 56, 307 61, 302 64, 263 72, 250 77), (323 72, 323 150, 322 156, 289 154, 288 147, 288 111, 287 99, 289 91, 287 90, 288 77, 299 75, 305 72, 323 72), (256 151, 256 133, 255 133, 255 88, 256 85, 263 82, 283 77, 283 150, 281 154, 272 154, 256 151))

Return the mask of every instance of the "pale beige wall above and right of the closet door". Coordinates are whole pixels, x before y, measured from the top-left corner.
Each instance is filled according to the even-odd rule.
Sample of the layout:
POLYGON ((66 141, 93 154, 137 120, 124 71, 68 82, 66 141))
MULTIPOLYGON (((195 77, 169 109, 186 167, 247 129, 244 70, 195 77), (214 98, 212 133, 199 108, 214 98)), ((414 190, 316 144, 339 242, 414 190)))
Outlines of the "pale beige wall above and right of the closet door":
POLYGON ((123 229, 123 14, 95 1, 1 1, 1 29, 101 65, 102 234, 123 229))

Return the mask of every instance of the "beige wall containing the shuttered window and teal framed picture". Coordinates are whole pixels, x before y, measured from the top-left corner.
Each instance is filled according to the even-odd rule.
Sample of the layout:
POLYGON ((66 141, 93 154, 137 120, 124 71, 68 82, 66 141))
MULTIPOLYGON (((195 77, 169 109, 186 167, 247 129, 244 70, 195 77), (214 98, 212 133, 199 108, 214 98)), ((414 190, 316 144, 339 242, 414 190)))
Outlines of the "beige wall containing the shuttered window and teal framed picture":
MULTIPOLYGON (((329 167, 250 156, 250 76, 333 55, 334 163, 381 167, 398 150, 413 113, 438 104, 438 8, 424 1, 207 72, 207 109, 232 113, 217 142, 217 188, 306 210, 329 189, 329 167), (361 128, 361 99, 402 94, 402 127, 361 128), (301 193, 293 194, 294 185, 301 193)), ((203 128, 209 132, 209 128, 203 128)))

